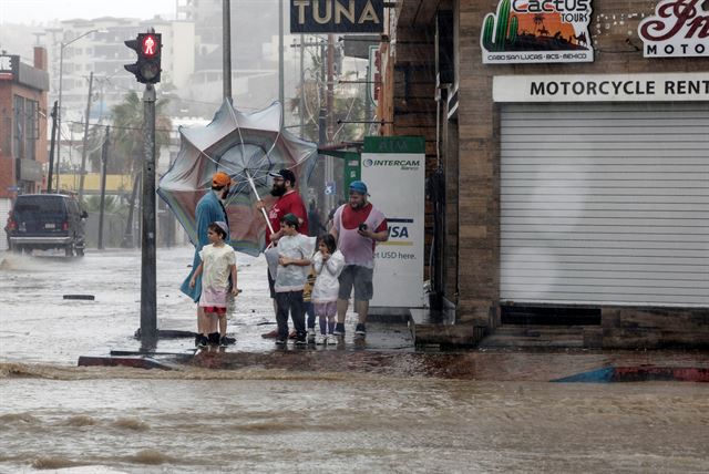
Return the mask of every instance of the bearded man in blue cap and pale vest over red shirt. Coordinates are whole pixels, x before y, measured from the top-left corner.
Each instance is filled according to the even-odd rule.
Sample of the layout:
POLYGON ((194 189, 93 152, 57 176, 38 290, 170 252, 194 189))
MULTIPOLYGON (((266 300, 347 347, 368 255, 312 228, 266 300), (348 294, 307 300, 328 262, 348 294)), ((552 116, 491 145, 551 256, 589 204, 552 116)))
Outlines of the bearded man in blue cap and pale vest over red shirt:
POLYGON ((367 337, 369 301, 374 295, 374 247, 389 240, 387 218, 381 210, 368 202, 367 185, 361 181, 350 184, 350 202, 341 205, 332 217, 330 234, 337 239, 337 248, 345 256, 345 268, 340 274, 340 291, 337 300, 337 324, 335 336, 345 337, 345 315, 354 288, 354 311, 358 323, 356 339, 367 337))

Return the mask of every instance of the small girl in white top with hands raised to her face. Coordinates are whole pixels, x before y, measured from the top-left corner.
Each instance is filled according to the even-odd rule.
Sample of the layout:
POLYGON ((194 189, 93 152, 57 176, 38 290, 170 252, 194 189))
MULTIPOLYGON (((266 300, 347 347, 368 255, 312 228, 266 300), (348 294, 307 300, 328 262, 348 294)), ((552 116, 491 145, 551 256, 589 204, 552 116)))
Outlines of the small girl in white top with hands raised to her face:
POLYGON ((345 256, 337 249, 335 237, 330 234, 320 236, 318 251, 312 256, 316 274, 315 286, 310 299, 320 323, 319 344, 336 344, 335 316, 337 313, 337 295, 340 289, 338 277, 345 267, 345 256))

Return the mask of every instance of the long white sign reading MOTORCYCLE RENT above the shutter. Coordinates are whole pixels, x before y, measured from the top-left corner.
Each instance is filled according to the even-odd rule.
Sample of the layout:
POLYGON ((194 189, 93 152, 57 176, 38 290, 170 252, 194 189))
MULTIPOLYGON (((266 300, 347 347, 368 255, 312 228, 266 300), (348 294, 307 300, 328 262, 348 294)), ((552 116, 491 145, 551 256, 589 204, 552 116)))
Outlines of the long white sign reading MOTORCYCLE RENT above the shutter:
POLYGON ((496 75, 494 102, 709 101, 709 74, 496 75))

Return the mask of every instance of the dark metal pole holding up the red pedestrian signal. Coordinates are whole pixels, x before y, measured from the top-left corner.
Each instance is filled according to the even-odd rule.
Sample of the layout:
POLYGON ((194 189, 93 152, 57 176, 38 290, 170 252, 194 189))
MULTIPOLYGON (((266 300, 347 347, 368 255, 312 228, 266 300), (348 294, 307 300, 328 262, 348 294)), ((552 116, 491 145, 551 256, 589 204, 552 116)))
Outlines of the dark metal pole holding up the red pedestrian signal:
POLYGON ((143 231, 141 271, 141 341, 148 346, 157 338, 157 301, 155 271, 155 89, 143 93, 145 124, 143 161, 143 231))

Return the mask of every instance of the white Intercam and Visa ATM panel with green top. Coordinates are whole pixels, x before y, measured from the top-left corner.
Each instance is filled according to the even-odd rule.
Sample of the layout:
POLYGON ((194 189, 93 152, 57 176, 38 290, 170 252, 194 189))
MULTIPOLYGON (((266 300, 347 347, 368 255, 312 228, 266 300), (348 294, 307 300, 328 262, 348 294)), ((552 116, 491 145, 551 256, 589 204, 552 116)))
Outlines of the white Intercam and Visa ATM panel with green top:
POLYGON ((367 136, 361 163, 370 200, 389 224, 389 240, 374 250, 370 305, 422 308, 425 142, 418 136, 367 136))

